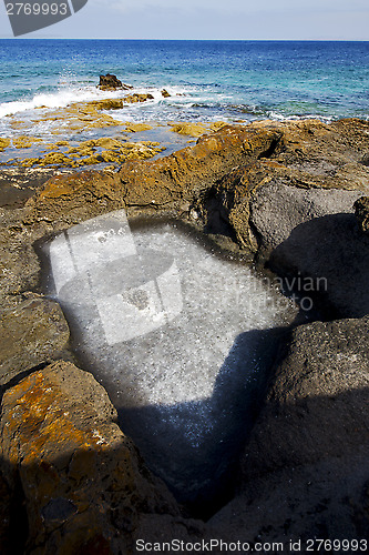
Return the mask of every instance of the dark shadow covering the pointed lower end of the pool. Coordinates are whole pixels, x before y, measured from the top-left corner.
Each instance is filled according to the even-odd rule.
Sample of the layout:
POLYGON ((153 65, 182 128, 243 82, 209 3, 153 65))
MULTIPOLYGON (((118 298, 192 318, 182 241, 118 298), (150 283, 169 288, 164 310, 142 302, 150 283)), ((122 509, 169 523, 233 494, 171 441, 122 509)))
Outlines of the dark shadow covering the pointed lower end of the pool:
POLYGON ((284 333, 286 329, 279 327, 239 334, 211 397, 117 407, 124 433, 194 516, 208 517, 234 495, 239 454, 264 400, 284 333))

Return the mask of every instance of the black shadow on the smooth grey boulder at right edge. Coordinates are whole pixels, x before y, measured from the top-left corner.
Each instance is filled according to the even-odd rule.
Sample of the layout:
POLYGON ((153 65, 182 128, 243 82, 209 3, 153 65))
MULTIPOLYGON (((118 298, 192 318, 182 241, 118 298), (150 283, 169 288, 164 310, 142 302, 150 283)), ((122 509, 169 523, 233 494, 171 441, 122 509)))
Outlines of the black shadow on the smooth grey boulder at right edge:
POLYGON ((268 265, 289 279, 300 278, 303 289, 294 292, 312 297, 329 317, 369 313, 369 239, 353 214, 326 215, 297 225, 271 252, 268 265), (319 280, 320 286, 308 287, 307 279, 319 280))

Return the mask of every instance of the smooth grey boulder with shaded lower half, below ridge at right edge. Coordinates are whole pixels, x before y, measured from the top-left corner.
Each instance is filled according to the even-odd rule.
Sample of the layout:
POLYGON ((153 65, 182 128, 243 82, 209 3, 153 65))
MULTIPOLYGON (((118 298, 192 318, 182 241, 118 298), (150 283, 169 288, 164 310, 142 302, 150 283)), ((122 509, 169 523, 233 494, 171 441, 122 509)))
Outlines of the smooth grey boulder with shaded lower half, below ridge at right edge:
POLYGON ((324 282, 311 296, 336 317, 369 313, 369 240, 352 209, 359 196, 267 185, 256 192, 252 208, 262 260, 280 275, 324 282))

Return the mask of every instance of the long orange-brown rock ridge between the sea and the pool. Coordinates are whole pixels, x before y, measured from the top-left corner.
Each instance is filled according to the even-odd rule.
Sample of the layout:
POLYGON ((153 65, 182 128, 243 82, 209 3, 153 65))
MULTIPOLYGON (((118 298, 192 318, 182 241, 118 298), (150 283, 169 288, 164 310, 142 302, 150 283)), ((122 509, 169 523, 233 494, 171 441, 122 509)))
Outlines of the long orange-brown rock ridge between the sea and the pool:
MULTIPOLYGON (((41 210, 44 216, 51 211, 50 216, 59 219, 66 215, 68 205, 82 206, 85 195, 99 198, 105 190, 107 200, 114 190, 120 199, 116 208, 147 213, 175 210, 182 215, 195 208, 205 229, 212 228, 212 219, 221 218, 239 244, 255 252, 257 246, 249 241, 253 191, 273 182, 308 190, 359 190, 362 194, 368 190, 369 169, 359 161, 369 148, 368 129, 369 123, 360 120, 331 125, 314 120, 224 125, 201 137, 195 147, 170 157, 127 161, 116 178, 94 172, 50 180, 37 200, 29 201, 29 208, 41 210), (54 212, 57 199, 62 206, 54 212)), ((109 206, 98 210, 107 211, 109 206)))

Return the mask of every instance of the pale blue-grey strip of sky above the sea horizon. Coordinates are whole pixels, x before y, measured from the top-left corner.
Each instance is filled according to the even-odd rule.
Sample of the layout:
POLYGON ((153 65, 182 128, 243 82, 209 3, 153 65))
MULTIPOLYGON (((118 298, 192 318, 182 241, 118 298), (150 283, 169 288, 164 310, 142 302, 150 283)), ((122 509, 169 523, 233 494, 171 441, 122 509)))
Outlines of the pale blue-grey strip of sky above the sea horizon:
MULTIPOLYGON (((0 37, 12 37, 2 0, 0 37)), ((369 40, 369 1, 89 0, 24 38, 369 40)))

